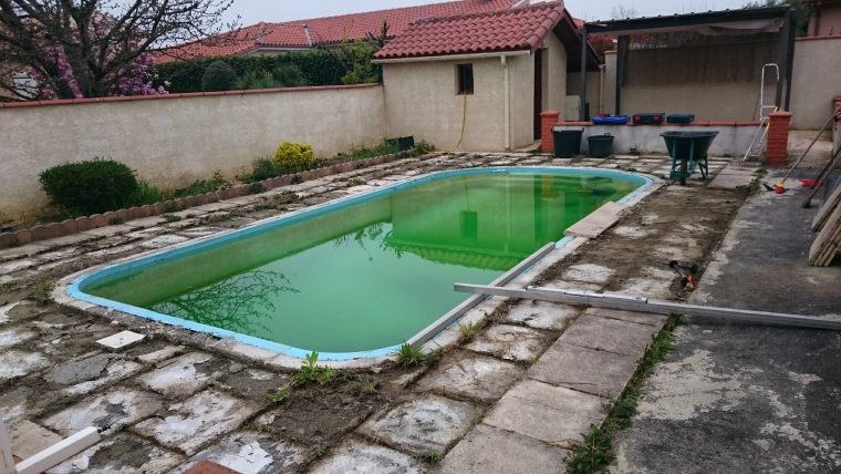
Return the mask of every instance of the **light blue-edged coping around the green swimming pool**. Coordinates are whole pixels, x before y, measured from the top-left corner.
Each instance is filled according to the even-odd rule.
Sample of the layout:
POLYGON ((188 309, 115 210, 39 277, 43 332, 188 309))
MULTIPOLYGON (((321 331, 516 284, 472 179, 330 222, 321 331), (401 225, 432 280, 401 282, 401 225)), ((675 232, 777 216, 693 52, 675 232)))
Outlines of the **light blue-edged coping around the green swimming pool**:
MULTIPOLYGON (((291 213, 260 219, 240 228, 220 231, 214 235, 190 239, 164 248, 152 249, 106 264, 90 267, 62 278, 56 284, 52 296, 54 300, 61 305, 108 317, 117 322, 122 322, 128 326, 129 329, 132 327, 142 327, 148 329, 149 324, 159 324, 159 327, 157 327, 157 332, 169 339, 175 339, 176 341, 195 341, 196 339, 201 339, 203 346, 212 347, 216 350, 235 357, 240 356, 249 360, 262 361, 269 365, 299 368, 301 360, 309 353, 309 351, 292 348, 273 341, 268 341, 257 337, 241 334, 225 329, 212 328, 203 323, 172 317, 168 315, 162 315, 143 308, 133 307, 131 305, 86 295, 80 290, 80 285, 89 282, 87 279, 94 277, 95 279, 107 278, 110 275, 113 275, 113 272, 108 272, 108 269, 118 271, 117 268, 120 268, 122 271, 127 271, 132 268, 136 268, 137 266, 154 265, 155 261, 172 258, 174 255, 177 256, 179 254, 195 251, 203 247, 218 245, 233 238, 241 238, 242 236, 247 236, 249 234, 263 231, 267 228, 271 227, 271 224, 276 224, 278 227, 285 226, 293 224, 302 218, 309 218, 313 215, 341 209, 360 200, 393 194, 402 189, 422 185, 433 179, 471 174, 503 172, 510 173, 512 171, 516 173, 530 173, 546 169, 562 169, 577 173, 585 172, 585 174, 592 174, 593 176, 630 175, 642 178, 644 183, 641 186, 619 200, 620 204, 624 204, 627 207, 634 206, 663 185, 662 179, 642 173, 578 166, 515 165, 438 171, 414 176, 408 179, 403 179, 377 189, 360 192, 350 196, 332 199, 326 203, 309 206, 291 213)), ((586 218, 586 216, 584 218, 586 218)), ((490 285, 527 285, 529 282, 528 280, 536 278, 546 268, 556 265, 558 261, 562 260, 567 255, 572 253, 574 249, 588 240, 588 238, 583 237, 563 237, 557 243, 550 243, 515 266, 512 269, 499 276, 490 285)), ((492 309, 495 309, 495 307, 501 302, 501 300, 505 299, 487 298, 478 295, 473 296, 438 318, 432 324, 427 326, 424 330, 419 331, 417 334, 409 339, 409 342, 415 344, 423 344, 425 350, 449 347, 460 339, 460 331, 457 323, 461 319, 470 316, 470 322, 480 321, 485 318, 485 316, 492 312, 492 309)), ((322 353, 320 354, 320 361, 335 368, 372 367, 383 361, 394 359, 394 353, 398 347, 399 346, 394 346, 361 352, 322 353)))

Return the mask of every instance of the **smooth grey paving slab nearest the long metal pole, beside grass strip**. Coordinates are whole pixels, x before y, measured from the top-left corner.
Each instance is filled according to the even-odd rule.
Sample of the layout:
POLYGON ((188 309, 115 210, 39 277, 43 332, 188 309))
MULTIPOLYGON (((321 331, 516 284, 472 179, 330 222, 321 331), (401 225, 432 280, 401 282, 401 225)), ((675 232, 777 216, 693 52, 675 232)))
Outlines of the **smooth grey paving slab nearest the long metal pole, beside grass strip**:
POLYGON ((651 326, 584 315, 561 334, 557 343, 641 358, 656 332, 651 326))

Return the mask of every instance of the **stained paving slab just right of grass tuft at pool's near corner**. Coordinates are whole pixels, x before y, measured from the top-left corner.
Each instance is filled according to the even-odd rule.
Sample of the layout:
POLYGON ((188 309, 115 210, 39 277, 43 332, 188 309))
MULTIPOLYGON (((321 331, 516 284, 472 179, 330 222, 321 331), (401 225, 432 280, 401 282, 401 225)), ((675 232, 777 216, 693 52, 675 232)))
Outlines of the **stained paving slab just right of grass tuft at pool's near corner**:
POLYGON ((417 389, 490 402, 502 396, 521 373, 512 363, 458 351, 424 375, 417 389))

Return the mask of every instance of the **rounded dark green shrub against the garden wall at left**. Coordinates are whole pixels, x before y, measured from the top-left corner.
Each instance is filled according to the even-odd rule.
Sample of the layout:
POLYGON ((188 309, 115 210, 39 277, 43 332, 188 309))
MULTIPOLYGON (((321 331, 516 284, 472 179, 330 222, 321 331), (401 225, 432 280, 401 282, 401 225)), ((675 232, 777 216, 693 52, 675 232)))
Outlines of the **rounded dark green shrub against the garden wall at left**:
POLYGON ((113 159, 68 163, 41 172, 50 202, 74 215, 120 209, 133 204, 139 185, 134 171, 113 159))

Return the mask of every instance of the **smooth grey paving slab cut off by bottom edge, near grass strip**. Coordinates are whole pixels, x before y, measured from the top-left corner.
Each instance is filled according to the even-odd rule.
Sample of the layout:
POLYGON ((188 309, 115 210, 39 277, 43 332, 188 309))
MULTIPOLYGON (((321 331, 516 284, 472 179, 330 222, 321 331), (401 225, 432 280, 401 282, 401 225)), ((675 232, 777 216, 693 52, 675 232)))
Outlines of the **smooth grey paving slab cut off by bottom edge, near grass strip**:
POLYGON ((569 451, 478 424, 444 458, 442 474, 562 472, 569 451))

